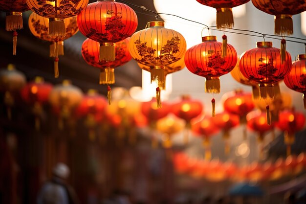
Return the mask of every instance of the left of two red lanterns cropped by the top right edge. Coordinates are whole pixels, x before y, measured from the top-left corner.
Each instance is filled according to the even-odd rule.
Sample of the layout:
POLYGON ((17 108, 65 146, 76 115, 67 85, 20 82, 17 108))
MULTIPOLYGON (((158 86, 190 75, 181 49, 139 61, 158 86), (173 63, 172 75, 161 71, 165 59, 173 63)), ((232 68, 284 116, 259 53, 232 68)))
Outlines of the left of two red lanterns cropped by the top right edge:
POLYGON ((197 2, 217 9, 217 29, 234 27, 232 8, 249 0, 197 0, 197 2))

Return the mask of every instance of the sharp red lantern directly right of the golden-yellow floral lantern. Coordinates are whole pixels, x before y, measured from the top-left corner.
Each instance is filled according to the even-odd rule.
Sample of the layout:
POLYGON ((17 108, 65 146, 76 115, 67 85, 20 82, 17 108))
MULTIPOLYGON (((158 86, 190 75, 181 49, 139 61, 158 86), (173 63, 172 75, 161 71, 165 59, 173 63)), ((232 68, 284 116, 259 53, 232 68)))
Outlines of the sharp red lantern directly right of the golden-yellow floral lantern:
MULTIPOLYGON (((220 92, 219 76, 230 72, 236 63, 235 48, 229 44, 223 48, 216 36, 202 37, 202 43, 189 48, 185 54, 185 64, 189 71, 206 78, 205 92, 208 93, 220 92)), ((215 116, 214 98, 212 105, 215 116)))

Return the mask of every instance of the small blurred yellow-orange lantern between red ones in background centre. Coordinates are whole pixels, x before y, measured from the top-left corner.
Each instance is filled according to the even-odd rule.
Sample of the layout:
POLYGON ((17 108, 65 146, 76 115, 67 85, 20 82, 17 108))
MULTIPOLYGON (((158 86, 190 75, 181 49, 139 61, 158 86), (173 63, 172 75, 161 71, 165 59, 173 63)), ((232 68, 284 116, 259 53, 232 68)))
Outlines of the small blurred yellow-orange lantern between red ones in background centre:
POLYGON ((156 130, 163 134, 163 147, 168 149, 172 147, 171 137, 183 130, 185 122, 174 116, 168 115, 156 122, 156 130))

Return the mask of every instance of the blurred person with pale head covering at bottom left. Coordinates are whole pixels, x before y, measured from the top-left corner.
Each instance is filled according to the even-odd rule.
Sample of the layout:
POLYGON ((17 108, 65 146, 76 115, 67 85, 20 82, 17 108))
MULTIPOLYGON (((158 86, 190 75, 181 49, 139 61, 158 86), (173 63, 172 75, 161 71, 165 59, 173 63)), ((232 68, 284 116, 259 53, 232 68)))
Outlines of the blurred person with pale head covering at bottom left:
POLYGON ((68 166, 58 163, 52 173, 38 194, 37 204, 79 204, 73 188, 65 181, 70 173, 68 166))

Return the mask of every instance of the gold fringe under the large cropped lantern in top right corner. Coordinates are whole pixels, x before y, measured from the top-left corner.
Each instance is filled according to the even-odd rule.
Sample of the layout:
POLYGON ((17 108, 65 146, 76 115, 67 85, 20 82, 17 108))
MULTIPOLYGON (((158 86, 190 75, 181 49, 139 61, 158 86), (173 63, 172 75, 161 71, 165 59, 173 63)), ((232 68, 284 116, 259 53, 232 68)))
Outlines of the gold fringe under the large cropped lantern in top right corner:
POLYGON ((293 22, 292 16, 281 14, 274 17, 274 33, 276 35, 292 35, 293 34, 293 22))

